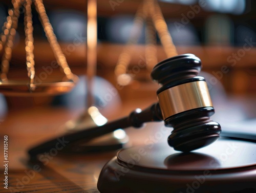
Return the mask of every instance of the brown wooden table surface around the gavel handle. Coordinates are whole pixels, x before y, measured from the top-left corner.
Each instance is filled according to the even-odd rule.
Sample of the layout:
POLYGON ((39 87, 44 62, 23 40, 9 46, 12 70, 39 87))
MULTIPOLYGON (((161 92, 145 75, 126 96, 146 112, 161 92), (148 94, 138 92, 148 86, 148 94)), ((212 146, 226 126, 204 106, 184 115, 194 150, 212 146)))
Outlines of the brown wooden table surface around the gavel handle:
MULTIPOLYGON (((125 115, 126 111, 121 114, 125 115)), ((78 114, 50 107, 9 112, 0 122, 0 192, 99 192, 96 185, 101 168, 117 151, 88 155, 58 152, 41 164, 28 161, 29 148, 63 133, 61 125, 78 114), (8 136, 8 189, 2 183, 5 179, 4 136, 8 136)), ((133 131, 131 128, 131 135, 133 131)))

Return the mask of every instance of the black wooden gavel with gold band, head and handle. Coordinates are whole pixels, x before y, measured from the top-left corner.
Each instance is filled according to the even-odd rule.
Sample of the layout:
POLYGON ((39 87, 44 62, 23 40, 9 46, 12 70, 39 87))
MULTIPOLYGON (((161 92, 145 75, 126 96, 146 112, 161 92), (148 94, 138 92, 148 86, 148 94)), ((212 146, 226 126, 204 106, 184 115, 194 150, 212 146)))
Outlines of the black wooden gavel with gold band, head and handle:
POLYGON ((153 80, 161 84, 157 91, 158 103, 143 111, 136 109, 129 116, 102 126, 49 140, 31 148, 30 156, 50 151, 59 140, 69 143, 89 141, 118 128, 139 128, 152 121, 164 121, 165 126, 174 128, 167 141, 177 151, 190 152, 213 143, 220 137, 221 126, 210 120, 215 110, 205 79, 197 76, 201 67, 201 60, 193 54, 159 62, 151 73, 153 80))

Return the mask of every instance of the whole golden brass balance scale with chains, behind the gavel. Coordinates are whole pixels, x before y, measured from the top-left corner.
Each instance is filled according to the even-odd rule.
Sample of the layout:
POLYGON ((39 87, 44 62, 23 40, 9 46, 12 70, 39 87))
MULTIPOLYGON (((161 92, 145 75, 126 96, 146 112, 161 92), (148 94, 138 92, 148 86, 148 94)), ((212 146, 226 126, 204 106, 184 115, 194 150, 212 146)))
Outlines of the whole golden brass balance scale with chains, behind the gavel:
MULTIPOLYGON (((42 96, 42 95, 58 95, 71 91, 76 83, 78 82, 78 77, 71 72, 65 55, 58 44, 57 38, 54 34, 52 25, 46 14, 45 6, 42 0, 12 0, 13 9, 8 11, 9 16, 3 27, 3 33, 1 34, 0 41, 0 53, 4 51, 2 62, 1 62, 1 74, 0 74, 0 93, 6 96, 42 96), (41 20, 42 26, 45 30, 46 36, 54 52, 54 56, 57 63, 65 74, 63 81, 61 82, 43 82, 35 83, 35 61, 34 61, 34 38, 33 38, 33 23, 32 23, 32 11, 31 6, 34 2, 36 11, 38 12, 39 18, 41 20), (19 9, 25 8, 25 50, 26 50, 26 65, 28 71, 29 82, 24 81, 14 81, 7 78, 9 72, 10 60, 12 57, 13 41, 16 34, 16 29, 18 26, 19 9)), ((86 129, 91 126, 96 126, 105 123, 107 121, 98 109, 93 106, 93 78, 96 75, 96 60, 97 60, 97 3, 96 0, 88 1, 88 69, 87 69, 87 84, 88 84, 88 98, 87 106, 88 110, 84 111, 77 119, 69 120, 65 125, 61 127, 64 132, 75 132, 79 130, 86 129), (91 31, 90 31, 91 30, 91 31), (100 119, 100 123, 97 120, 100 119)), ((126 74, 127 68, 133 53, 129 49, 129 45, 136 44, 139 35, 142 31, 143 22, 146 22, 146 65, 148 70, 151 71, 157 63, 156 56, 156 32, 157 30, 160 40, 162 42, 164 51, 167 57, 172 57, 177 55, 176 48, 173 44, 172 37, 170 36, 167 25, 163 18, 161 9, 154 0, 144 0, 142 5, 138 8, 137 13, 134 18, 134 25, 132 28, 132 33, 130 40, 127 42, 127 46, 124 47, 123 52, 120 54, 117 65, 115 68, 115 74, 117 81, 121 85, 127 85, 131 82, 133 75, 126 74), (127 81, 127 78, 129 81, 127 81)), ((88 151, 88 146, 92 149, 95 146, 112 146, 113 148, 121 148, 127 143, 127 136, 123 130, 116 131, 102 137, 87 142, 86 144, 75 144, 79 151, 88 151), (118 138, 116 136, 119 136, 118 138), (122 136, 120 138, 120 136, 122 136)), ((100 149, 100 148, 98 148, 100 149)))

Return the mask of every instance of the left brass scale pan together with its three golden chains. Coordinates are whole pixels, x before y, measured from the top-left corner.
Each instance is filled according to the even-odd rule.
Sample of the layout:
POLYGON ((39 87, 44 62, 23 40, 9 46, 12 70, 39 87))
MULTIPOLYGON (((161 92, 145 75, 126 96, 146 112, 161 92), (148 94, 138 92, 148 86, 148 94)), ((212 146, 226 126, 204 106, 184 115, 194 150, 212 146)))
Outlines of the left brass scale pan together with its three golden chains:
POLYGON ((50 46, 54 52, 54 56, 58 62, 59 67, 65 74, 62 82, 54 83, 34 83, 35 78, 35 61, 34 61, 34 39, 33 39, 33 25, 31 13, 31 0, 16 0, 12 1, 13 9, 8 11, 9 16, 3 27, 3 34, 1 34, 0 52, 4 50, 1 62, 0 75, 0 92, 5 95, 12 96, 31 96, 31 95, 51 95, 62 94, 72 90, 78 81, 78 77, 74 75, 68 65, 66 57, 57 42, 57 38, 53 32, 52 25, 46 14, 45 6, 41 0, 34 1, 36 10, 41 19, 42 26, 45 29, 46 36, 50 46), (12 56, 13 41, 18 25, 19 9, 24 6, 26 9, 24 24, 25 24, 25 43, 26 43, 26 65, 28 70, 29 82, 10 81, 7 78, 9 71, 10 60, 12 56))

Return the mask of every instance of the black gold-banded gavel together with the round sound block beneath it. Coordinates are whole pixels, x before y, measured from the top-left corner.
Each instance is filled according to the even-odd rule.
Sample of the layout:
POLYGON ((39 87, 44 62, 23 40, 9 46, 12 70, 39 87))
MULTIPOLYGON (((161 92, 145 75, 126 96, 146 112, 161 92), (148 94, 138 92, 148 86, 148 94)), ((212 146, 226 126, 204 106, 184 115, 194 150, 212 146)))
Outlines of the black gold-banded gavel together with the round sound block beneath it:
POLYGON ((69 146, 78 141, 87 142, 118 128, 164 121, 174 128, 168 144, 121 149, 101 170, 97 182, 101 193, 256 192, 256 143, 215 142, 221 126, 210 120, 214 107, 205 79, 197 76, 200 70, 201 61, 193 54, 159 62, 151 74, 162 86, 157 91, 158 103, 102 126, 52 139, 30 149, 30 157, 50 151, 60 140, 69 141, 61 151, 72 151, 69 146))

